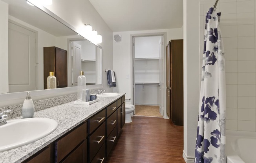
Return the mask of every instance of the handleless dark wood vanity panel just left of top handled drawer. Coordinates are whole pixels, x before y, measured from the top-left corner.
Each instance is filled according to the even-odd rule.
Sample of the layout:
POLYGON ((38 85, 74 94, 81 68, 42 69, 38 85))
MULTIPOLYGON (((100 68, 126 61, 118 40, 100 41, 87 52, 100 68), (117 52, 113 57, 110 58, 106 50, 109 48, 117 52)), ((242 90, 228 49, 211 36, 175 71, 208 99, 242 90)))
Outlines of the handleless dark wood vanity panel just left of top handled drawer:
POLYGON ((55 141, 55 162, 57 161, 59 163, 69 152, 86 139, 86 126, 87 123, 85 122, 73 129, 66 136, 55 141))

